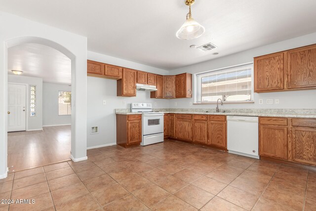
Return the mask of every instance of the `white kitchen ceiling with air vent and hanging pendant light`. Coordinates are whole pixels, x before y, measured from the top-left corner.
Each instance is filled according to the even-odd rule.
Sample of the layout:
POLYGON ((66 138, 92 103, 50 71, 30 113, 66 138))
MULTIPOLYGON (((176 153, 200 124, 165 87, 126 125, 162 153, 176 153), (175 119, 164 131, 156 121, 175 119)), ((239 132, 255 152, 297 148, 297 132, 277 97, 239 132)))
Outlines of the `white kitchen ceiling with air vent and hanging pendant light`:
POLYGON ((0 0, 0 10, 86 36, 88 50, 172 70, 316 32, 316 0, 196 0, 206 31, 178 40, 184 0, 0 0), (208 52, 189 48, 212 42, 208 52), (219 55, 212 55, 219 52, 219 55))

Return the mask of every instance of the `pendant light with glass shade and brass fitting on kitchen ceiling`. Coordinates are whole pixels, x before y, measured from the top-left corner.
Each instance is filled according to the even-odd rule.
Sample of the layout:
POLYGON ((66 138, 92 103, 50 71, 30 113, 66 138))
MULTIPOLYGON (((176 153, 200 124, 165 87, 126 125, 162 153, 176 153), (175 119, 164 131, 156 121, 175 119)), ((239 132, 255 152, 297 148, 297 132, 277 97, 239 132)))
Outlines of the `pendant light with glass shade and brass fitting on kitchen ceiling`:
POLYGON ((200 37, 205 32, 205 28, 192 18, 191 4, 193 4, 194 1, 195 0, 185 1, 185 4, 189 5, 189 13, 187 14, 186 22, 184 22, 176 34, 177 38, 181 40, 192 40, 200 37))

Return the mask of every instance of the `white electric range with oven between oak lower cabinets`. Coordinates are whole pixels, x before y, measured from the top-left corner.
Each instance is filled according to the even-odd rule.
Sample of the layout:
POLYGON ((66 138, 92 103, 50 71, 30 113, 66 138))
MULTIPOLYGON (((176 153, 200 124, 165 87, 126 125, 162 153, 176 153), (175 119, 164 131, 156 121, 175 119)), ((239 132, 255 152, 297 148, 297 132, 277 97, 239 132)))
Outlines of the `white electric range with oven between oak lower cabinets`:
POLYGON ((163 142, 163 113, 153 111, 151 103, 132 103, 132 112, 142 114, 142 146, 163 142))

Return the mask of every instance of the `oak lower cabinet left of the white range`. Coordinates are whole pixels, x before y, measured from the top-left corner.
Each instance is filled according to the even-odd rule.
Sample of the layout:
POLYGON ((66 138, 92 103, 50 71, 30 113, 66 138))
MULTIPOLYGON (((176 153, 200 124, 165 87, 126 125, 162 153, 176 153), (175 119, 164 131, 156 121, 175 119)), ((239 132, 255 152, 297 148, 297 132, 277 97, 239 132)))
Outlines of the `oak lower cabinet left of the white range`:
POLYGON ((123 147, 142 142, 142 115, 117 114, 117 144, 123 147))

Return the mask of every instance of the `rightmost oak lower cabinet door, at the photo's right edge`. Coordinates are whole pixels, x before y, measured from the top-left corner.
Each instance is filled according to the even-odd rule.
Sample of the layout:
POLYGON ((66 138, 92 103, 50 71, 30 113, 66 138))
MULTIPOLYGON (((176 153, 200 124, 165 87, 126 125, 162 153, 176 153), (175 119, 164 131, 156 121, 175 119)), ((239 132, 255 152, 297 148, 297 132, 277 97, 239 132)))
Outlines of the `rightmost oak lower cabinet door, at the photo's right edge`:
POLYGON ((293 161, 316 165, 316 129, 293 127, 292 152, 293 161))

